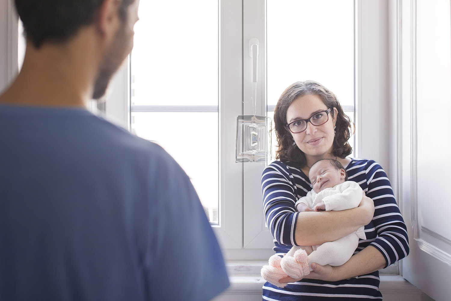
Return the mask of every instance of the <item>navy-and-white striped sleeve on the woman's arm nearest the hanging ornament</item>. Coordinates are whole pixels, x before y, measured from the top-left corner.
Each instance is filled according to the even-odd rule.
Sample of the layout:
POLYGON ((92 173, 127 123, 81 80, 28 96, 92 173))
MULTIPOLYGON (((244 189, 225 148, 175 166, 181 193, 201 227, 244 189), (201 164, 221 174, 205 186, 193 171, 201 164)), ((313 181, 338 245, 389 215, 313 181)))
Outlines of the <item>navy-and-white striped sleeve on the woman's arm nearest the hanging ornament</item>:
POLYGON ((262 174, 263 213, 269 231, 281 245, 295 244, 296 186, 288 168, 272 162, 262 174))

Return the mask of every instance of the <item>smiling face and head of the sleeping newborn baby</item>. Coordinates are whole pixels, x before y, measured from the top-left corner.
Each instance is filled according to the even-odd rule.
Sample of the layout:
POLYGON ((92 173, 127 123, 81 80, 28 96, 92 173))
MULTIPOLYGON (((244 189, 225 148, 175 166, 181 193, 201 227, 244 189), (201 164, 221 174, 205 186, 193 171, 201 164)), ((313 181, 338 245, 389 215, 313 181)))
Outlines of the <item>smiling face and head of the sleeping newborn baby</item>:
POLYGON ((322 160, 313 164, 308 172, 308 178, 316 193, 323 189, 333 187, 345 181, 345 170, 336 169, 329 160, 322 160))

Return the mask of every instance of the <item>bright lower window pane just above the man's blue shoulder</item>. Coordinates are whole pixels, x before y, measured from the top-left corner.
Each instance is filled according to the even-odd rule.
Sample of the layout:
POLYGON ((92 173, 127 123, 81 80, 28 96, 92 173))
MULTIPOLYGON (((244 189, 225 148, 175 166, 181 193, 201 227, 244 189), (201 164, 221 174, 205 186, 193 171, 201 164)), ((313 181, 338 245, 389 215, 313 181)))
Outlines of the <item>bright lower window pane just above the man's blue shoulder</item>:
POLYGON ((186 171, 211 223, 218 223, 218 113, 135 112, 132 131, 166 149, 186 171))

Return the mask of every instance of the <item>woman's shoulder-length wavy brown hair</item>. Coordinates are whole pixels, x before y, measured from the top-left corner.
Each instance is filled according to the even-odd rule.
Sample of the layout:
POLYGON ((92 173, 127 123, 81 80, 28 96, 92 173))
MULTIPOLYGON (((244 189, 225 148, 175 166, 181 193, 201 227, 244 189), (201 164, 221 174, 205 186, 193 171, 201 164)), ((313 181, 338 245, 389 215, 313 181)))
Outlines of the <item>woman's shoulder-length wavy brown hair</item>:
MULTIPOLYGON (((306 158, 304 152, 301 151, 296 144, 293 145, 294 140, 291 136, 291 132, 285 126, 287 123, 286 112, 296 98, 309 94, 318 95, 328 108, 335 107, 338 111, 335 124, 336 134, 333 141, 333 155, 345 158, 352 152, 352 148, 348 143, 351 135, 352 123, 350 118, 343 112, 343 108, 335 94, 322 84, 312 80, 296 82, 286 88, 277 101, 274 110, 274 124, 277 139, 276 159, 282 162, 295 163, 298 167, 304 167, 306 165, 306 158)), ((332 110, 331 116, 333 117, 334 114, 335 111, 332 110)))

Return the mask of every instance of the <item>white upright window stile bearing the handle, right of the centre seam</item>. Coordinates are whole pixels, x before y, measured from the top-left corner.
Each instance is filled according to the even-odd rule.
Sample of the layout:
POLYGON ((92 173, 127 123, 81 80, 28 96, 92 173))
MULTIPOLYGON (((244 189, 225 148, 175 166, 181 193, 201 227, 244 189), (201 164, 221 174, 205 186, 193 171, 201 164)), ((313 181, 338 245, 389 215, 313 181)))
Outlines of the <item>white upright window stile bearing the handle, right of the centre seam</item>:
MULTIPOLYGON (((243 1, 243 113, 266 116, 266 1, 243 1), (257 83, 253 83, 253 63, 249 41, 258 39, 257 83)), ((272 236, 265 226, 261 191, 262 171, 266 162, 243 163, 244 168, 244 237, 245 249, 273 246, 272 236)))

